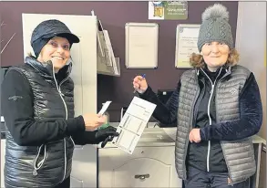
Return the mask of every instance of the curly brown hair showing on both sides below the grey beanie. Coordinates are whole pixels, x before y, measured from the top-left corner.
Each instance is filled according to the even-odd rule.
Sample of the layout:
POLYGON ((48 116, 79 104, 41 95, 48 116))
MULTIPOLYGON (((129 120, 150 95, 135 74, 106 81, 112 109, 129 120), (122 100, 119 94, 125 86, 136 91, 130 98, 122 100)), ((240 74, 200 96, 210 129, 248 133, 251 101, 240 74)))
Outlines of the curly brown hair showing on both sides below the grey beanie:
MULTIPOLYGON (((229 53, 229 57, 226 63, 230 66, 234 66, 238 63, 239 57, 240 57, 239 53, 237 52, 235 48, 233 48, 231 49, 229 53)), ((190 56, 190 65, 193 68, 203 68, 205 65, 205 62, 204 62, 202 55, 192 53, 192 55, 190 56)))

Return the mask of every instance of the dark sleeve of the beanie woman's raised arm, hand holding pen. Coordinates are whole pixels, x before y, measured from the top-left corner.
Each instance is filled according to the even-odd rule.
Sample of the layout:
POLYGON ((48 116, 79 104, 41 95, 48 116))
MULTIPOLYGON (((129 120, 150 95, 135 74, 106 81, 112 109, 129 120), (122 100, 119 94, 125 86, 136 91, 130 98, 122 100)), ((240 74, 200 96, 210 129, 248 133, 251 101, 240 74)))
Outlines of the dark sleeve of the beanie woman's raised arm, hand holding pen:
POLYGON ((171 124, 177 120, 177 110, 179 103, 180 82, 176 90, 172 93, 166 104, 163 104, 158 96, 149 87, 143 94, 139 94, 141 99, 146 99, 157 105, 153 112, 153 117, 164 124, 171 124))

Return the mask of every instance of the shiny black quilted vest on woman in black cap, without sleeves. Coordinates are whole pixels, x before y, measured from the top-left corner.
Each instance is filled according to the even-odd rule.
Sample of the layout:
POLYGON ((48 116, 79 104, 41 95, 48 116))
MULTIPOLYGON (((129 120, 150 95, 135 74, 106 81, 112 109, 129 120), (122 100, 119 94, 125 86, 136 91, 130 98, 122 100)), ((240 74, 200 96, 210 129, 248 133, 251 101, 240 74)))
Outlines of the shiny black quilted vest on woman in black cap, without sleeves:
MULTIPOLYGON (((26 64, 14 67, 29 82, 34 97, 35 120, 58 120, 74 117, 74 83, 69 78, 71 66, 60 70, 63 79, 56 82, 53 66, 26 57, 26 64)), ((19 146, 6 131, 5 186, 53 187, 71 172, 74 141, 70 137, 38 147, 19 146)))

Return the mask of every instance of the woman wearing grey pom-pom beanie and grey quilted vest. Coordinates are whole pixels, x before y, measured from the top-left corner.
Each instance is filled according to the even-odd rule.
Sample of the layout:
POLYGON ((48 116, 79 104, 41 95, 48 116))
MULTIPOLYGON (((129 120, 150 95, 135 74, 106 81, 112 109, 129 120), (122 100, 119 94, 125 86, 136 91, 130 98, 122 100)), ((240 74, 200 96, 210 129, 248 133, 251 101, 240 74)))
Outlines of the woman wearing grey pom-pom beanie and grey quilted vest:
POLYGON ((177 122, 175 163, 185 188, 249 188, 256 172, 251 137, 262 126, 262 100, 253 73, 237 65, 228 20, 220 4, 202 14, 200 54, 166 104, 145 78, 133 80, 139 97, 157 104, 157 120, 177 122))

